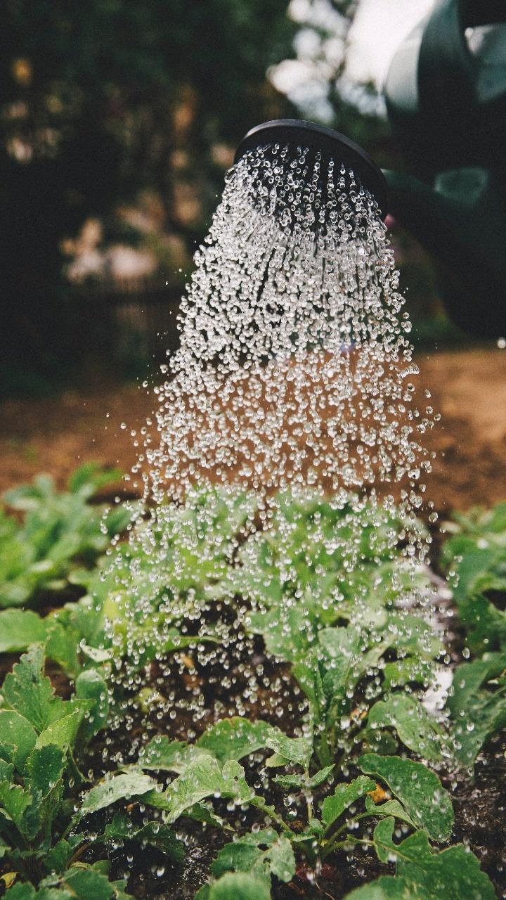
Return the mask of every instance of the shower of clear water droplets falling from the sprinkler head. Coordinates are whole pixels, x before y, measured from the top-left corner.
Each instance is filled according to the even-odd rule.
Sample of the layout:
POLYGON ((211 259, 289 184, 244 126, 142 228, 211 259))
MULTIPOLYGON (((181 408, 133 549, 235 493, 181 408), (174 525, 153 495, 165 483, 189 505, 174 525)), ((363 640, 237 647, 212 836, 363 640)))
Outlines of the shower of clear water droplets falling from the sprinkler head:
MULTIPOLYGON (((258 696, 264 666, 255 662, 244 619, 269 589, 256 552, 242 551, 244 538, 276 528, 280 545, 289 543, 296 521, 280 514, 282 498, 309 493, 346 510, 344 538, 342 529, 323 534, 318 521, 311 535, 328 554, 339 551, 345 572, 361 564, 367 524, 378 558, 401 544, 415 572, 428 546, 420 509, 435 519, 424 500, 431 461, 423 436, 437 417, 429 395, 416 398, 411 323, 384 222, 374 198, 339 161, 277 145, 249 152, 230 170, 194 262, 180 347, 162 367, 156 418, 134 468, 145 507, 131 543, 149 558, 149 573, 132 563, 126 575, 118 567, 117 578, 137 592, 135 625, 152 617, 148 595, 158 591, 162 667, 175 625, 185 633, 193 622, 190 633, 204 637, 212 620, 218 644, 195 646, 197 637, 192 653, 180 656, 180 670, 191 680, 195 654, 221 682, 239 666, 237 691, 235 676, 226 679, 232 707, 244 712, 245 691, 258 696), (181 512, 188 497, 195 498, 193 518, 181 512), (212 527, 220 503, 233 523, 230 534, 212 527), (236 562, 249 573, 250 596, 239 606, 237 583, 224 578, 226 565, 236 562), (195 588, 192 566, 205 572, 205 590, 195 588)), ((282 581, 293 579, 290 558, 282 553, 276 564, 282 581)), ((408 586, 395 567, 390 577, 401 603, 417 602, 414 575, 408 586)), ((304 590, 295 585, 290 602, 302 602, 304 590)), ((318 582, 313 592, 319 590, 318 582)), ((334 588, 327 602, 340 599, 334 588)), ((130 650, 139 661, 136 634, 133 627, 130 650)), ((167 664, 160 686, 169 670, 167 664)), ((129 679, 142 684, 139 674, 129 679)), ((196 721, 211 701, 198 684, 188 695, 196 721)), ((179 715, 181 698, 173 694, 167 704, 179 715)))

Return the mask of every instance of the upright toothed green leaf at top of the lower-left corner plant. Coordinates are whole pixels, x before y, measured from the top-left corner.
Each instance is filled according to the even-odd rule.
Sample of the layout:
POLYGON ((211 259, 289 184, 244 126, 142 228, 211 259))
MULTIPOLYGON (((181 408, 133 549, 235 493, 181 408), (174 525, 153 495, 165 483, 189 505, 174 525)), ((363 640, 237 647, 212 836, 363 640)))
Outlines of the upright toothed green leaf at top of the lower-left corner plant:
POLYGON ((55 697, 49 678, 42 674, 44 655, 41 647, 34 647, 16 663, 5 677, 5 703, 41 732, 65 713, 63 700, 55 697))

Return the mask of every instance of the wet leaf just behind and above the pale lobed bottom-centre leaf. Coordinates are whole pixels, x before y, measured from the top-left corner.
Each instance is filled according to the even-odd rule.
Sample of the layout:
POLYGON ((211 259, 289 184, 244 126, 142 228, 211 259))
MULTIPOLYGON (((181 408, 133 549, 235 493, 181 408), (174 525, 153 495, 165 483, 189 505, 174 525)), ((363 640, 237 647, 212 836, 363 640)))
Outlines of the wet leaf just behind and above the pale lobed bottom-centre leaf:
POLYGON ((241 760, 248 753, 269 746, 267 738, 274 733, 272 725, 267 722, 249 722, 241 716, 221 719, 212 725, 197 741, 197 747, 207 750, 218 761, 241 760))

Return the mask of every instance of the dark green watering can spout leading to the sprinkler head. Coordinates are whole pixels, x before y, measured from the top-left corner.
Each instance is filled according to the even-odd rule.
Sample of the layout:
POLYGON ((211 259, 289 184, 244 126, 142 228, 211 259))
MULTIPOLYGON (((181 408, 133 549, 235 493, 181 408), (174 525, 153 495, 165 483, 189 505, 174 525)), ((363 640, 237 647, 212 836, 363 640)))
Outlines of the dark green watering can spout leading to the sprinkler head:
POLYGON ((451 319, 478 337, 506 334, 506 215, 490 171, 443 172, 434 187, 400 172, 384 175, 389 210, 438 266, 451 319))

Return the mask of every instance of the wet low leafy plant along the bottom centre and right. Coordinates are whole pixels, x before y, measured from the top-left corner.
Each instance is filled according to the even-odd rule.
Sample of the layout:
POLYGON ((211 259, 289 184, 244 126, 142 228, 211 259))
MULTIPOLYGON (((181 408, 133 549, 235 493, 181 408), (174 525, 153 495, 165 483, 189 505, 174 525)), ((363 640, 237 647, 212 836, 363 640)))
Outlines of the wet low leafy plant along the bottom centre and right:
POLYGON ((294 878, 301 854, 314 865, 340 849, 352 850, 354 844, 373 847, 384 863, 399 860, 396 877, 378 882, 375 889, 384 891, 380 897, 401 897, 408 885, 419 896, 425 882, 425 893, 420 893, 423 900, 465 896, 458 894, 465 887, 481 892, 476 896, 483 900, 494 896, 491 882, 463 845, 444 851, 432 846, 447 841, 453 825, 451 801, 437 775, 422 763, 400 756, 369 753, 357 764, 362 774, 335 783, 334 765, 318 770, 312 735, 290 738, 265 722, 238 717, 218 722, 192 745, 158 735, 146 746, 137 767, 177 773, 168 788, 147 797, 169 824, 188 811, 195 815, 203 805, 207 821, 222 825, 209 806, 212 797, 226 797, 236 806, 253 807, 262 814, 257 829, 236 834, 219 851, 212 864, 212 881, 197 892, 198 900, 229 896, 268 900, 271 878, 285 882, 294 878), (239 763, 262 749, 272 752, 264 763, 268 779, 263 779, 264 788, 277 788, 302 801, 302 806, 297 802, 295 809, 294 804, 289 807, 294 810, 289 819, 278 812, 282 804, 267 804, 263 794, 249 787, 239 763), (280 768, 285 774, 269 778, 272 770, 280 768), (380 802, 376 802, 378 793, 380 802), (412 831, 401 844, 393 841, 395 822, 412 831))

